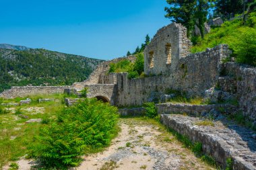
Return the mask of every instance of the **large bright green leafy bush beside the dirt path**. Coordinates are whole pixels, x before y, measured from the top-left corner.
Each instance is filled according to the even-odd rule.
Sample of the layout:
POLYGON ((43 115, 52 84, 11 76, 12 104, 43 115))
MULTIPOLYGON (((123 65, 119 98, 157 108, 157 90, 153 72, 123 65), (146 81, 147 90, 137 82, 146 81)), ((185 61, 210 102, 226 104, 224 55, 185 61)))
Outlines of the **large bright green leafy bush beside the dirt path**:
POLYGON ((117 108, 96 99, 65 108, 57 122, 41 130, 30 155, 46 168, 77 167, 82 155, 110 144, 117 115, 117 108))

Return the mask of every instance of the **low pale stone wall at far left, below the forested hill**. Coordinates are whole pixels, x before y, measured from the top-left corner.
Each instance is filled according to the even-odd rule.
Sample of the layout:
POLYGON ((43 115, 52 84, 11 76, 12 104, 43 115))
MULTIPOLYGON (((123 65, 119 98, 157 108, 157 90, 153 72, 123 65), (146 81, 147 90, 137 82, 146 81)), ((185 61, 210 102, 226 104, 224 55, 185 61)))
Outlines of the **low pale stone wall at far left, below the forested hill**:
POLYGON ((11 87, 11 89, 0 93, 1 98, 13 99, 15 97, 26 97, 28 95, 49 95, 55 93, 63 93, 64 89, 71 88, 71 86, 23 86, 23 87, 11 87))

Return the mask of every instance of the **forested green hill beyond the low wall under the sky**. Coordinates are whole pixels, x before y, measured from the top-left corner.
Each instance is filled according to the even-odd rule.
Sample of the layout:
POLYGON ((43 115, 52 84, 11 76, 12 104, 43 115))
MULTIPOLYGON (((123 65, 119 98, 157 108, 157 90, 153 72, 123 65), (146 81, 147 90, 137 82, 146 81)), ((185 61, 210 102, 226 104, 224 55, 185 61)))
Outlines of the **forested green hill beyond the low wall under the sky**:
POLYGON ((11 86, 71 85, 86 80, 102 61, 44 49, 0 48, 0 92, 11 86))

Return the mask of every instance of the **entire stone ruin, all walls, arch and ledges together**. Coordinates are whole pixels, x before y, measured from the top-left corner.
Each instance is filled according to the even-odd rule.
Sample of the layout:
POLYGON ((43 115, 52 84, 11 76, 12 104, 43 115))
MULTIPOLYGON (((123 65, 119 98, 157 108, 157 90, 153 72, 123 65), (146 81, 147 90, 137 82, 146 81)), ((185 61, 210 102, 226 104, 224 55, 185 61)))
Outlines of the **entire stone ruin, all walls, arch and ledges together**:
MULTIPOLYGON (((236 125, 225 125, 222 114, 239 111, 256 125, 256 68, 223 60, 230 56, 225 44, 190 54, 191 42, 181 24, 161 28, 144 50, 144 73, 147 77, 128 79, 127 73, 108 74, 109 63, 101 63, 85 82, 70 87, 12 87, 0 97, 24 97, 34 93, 77 93, 88 87, 88 97, 96 97, 117 106, 142 105, 152 98, 162 99, 168 89, 185 91, 189 96, 207 97, 212 101, 236 99, 237 105, 156 105, 161 122, 191 140, 203 144, 203 152, 212 155, 223 167, 232 158, 234 169, 256 169, 256 134, 236 125), (170 113, 187 113, 174 116, 170 113), (197 116, 211 114, 221 123, 214 128, 195 126, 197 116), (203 136, 203 137, 202 137, 203 136)), ((134 61, 134 57, 127 59, 134 61)), ((139 109, 137 109, 139 110, 139 109)), ((133 110, 134 111, 134 110, 133 110)), ((129 111, 123 111, 128 114, 129 111)), ((132 112, 134 115, 135 112, 132 112)))

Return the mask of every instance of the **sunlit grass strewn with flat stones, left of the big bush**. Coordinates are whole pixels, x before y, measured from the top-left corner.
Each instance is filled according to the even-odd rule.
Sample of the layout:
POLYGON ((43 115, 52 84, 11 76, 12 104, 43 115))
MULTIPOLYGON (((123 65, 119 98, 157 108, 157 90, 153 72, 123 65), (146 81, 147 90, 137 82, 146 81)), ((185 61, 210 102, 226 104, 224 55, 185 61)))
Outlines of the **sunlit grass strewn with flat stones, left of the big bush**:
MULTIPOLYGON (((33 142, 33 137, 39 134, 40 128, 46 124, 25 122, 32 118, 42 118, 42 120, 53 120, 56 113, 65 106, 62 102, 63 95, 36 95, 30 96, 32 103, 28 105, 14 106, 14 110, 19 111, 17 114, 28 116, 28 119, 20 118, 15 113, 9 112, 5 115, 0 115, 0 168, 8 161, 17 161, 20 157, 26 154, 26 148, 33 142), (38 103, 39 98, 55 98, 59 102, 49 101, 38 103), (24 110, 31 107, 44 108, 43 114, 31 114, 24 110), (11 140, 11 136, 15 139, 11 140)), ((4 103, 18 102, 26 97, 16 99, 3 100, 4 103)))

